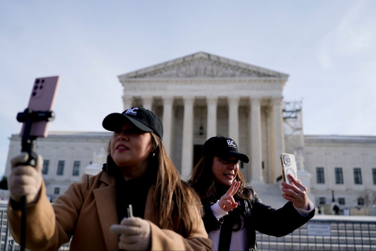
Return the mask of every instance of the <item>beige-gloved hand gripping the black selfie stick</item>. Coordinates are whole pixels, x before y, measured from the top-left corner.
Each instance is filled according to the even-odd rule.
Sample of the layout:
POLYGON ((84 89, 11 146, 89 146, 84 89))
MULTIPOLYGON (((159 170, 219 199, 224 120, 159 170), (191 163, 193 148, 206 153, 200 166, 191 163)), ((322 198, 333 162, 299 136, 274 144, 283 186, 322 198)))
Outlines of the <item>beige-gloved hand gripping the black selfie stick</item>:
POLYGON ((21 166, 20 164, 26 163, 28 158, 29 154, 22 152, 11 159, 12 168, 8 178, 9 194, 16 202, 20 202, 24 195, 26 195, 27 203, 36 202, 42 187, 42 156, 38 155, 35 167, 21 166))

